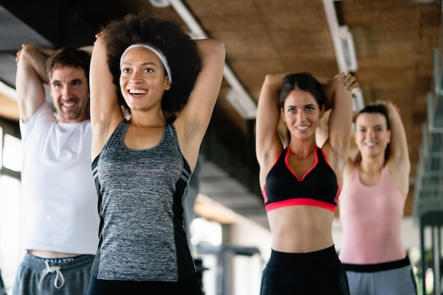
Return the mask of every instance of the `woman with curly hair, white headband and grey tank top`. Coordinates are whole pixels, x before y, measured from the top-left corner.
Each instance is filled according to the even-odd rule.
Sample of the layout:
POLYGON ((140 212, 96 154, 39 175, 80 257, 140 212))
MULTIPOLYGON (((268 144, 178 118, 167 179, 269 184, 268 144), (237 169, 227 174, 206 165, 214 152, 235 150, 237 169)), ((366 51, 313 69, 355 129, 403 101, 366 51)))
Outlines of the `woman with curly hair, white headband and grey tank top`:
POLYGON ((113 21, 96 37, 90 76, 100 243, 87 294, 202 294, 183 197, 222 83, 224 45, 191 40, 180 25, 146 12, 113 21))

